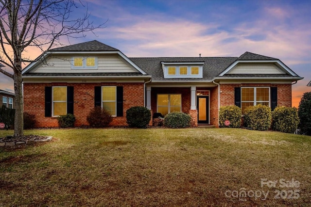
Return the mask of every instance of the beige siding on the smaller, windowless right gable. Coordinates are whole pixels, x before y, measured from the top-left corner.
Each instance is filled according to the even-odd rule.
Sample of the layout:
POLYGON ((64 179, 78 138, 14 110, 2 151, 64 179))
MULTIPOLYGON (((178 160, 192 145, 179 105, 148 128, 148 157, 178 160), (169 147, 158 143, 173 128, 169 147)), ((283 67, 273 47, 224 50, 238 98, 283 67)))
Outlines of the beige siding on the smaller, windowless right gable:
POLYGON ((276 64, 238 64, 228 74, 285 74, 276 64))

